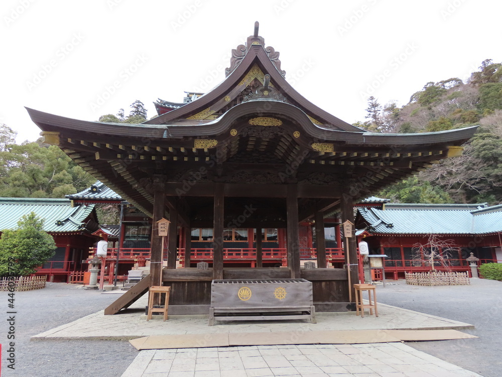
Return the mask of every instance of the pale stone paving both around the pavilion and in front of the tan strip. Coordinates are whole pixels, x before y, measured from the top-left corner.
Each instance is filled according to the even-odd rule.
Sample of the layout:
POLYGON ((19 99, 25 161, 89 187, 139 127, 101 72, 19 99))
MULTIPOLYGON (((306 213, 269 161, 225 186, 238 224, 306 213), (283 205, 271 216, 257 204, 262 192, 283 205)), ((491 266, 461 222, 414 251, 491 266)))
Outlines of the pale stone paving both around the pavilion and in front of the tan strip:
MULTIPOLYGON (((147 335, 283 332, 365 329, 466 329, 472 325, 378 304, 379 317, 353 312, 317 313, 317 324, 303 321, 225 323, 208 326, 208 316, 173 315, 146 321, 146 295, 129 312, 103 311, 32 337, 48 339, 135 339, 147 335)), ((217 322, 216 322, 217 324, 217 322)), ((122 377, 453 377, 479 376, 403 343, 235 346, 144 350, 122 377)))

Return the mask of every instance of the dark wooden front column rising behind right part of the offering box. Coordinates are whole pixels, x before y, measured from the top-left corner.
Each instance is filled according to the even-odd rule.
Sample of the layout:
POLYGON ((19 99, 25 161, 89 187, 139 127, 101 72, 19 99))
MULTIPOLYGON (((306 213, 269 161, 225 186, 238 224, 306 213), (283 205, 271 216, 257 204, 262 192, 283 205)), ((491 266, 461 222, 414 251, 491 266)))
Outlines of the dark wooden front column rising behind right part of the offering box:
POLYGON ((292 278, 300 278, 300 238, 298 234, 298 198, 297 187, 288 184, 286 198, 288 222, 288 267, 292 278))

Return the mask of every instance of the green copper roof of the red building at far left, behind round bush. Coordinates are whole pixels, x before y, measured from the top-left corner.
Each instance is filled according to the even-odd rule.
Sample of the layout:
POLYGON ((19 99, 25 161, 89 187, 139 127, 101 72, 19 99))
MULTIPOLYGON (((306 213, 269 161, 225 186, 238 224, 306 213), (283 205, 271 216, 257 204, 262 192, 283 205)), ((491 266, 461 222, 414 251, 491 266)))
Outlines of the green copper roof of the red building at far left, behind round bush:
POLYGON ((86 226, 94 205, 71 207, 69 199, 0 198, 0 230, 15 229, 23 215, 31 212, 45 219, 44 230, 50 233, 94 231, 93 220, 86 226))

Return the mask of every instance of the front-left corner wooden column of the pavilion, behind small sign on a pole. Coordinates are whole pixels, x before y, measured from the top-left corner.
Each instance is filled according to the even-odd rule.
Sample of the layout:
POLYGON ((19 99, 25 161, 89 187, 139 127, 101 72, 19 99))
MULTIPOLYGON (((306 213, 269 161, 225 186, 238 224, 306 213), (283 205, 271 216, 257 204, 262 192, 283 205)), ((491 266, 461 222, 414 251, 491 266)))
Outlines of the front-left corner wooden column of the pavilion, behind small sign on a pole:
POLYGON ((164 179, 165 178, 163 176, 154 176, 154 211, 152 222, 152 241, 150 244, 150 287, 162 285, 162 237, 159 236, 157 221, 164 217, 166 202, 164 179))

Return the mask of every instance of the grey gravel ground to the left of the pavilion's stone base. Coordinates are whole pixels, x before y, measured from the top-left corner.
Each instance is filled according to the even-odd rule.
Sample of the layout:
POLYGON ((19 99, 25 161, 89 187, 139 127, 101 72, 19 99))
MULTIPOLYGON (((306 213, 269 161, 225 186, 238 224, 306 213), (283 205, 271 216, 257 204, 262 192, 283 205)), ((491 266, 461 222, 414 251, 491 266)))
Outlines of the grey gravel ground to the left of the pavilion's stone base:
POLYGON ((0 321, 3 377, 120 376, 138 354, 128 341, 30 341, 30 337, 95 313, 118 296, 85 291, 74 285, 48 283, 45 289, 16 292, 16 364, 7 368, 9 341, 7 292, 0 293, 6 308, 0 321))

